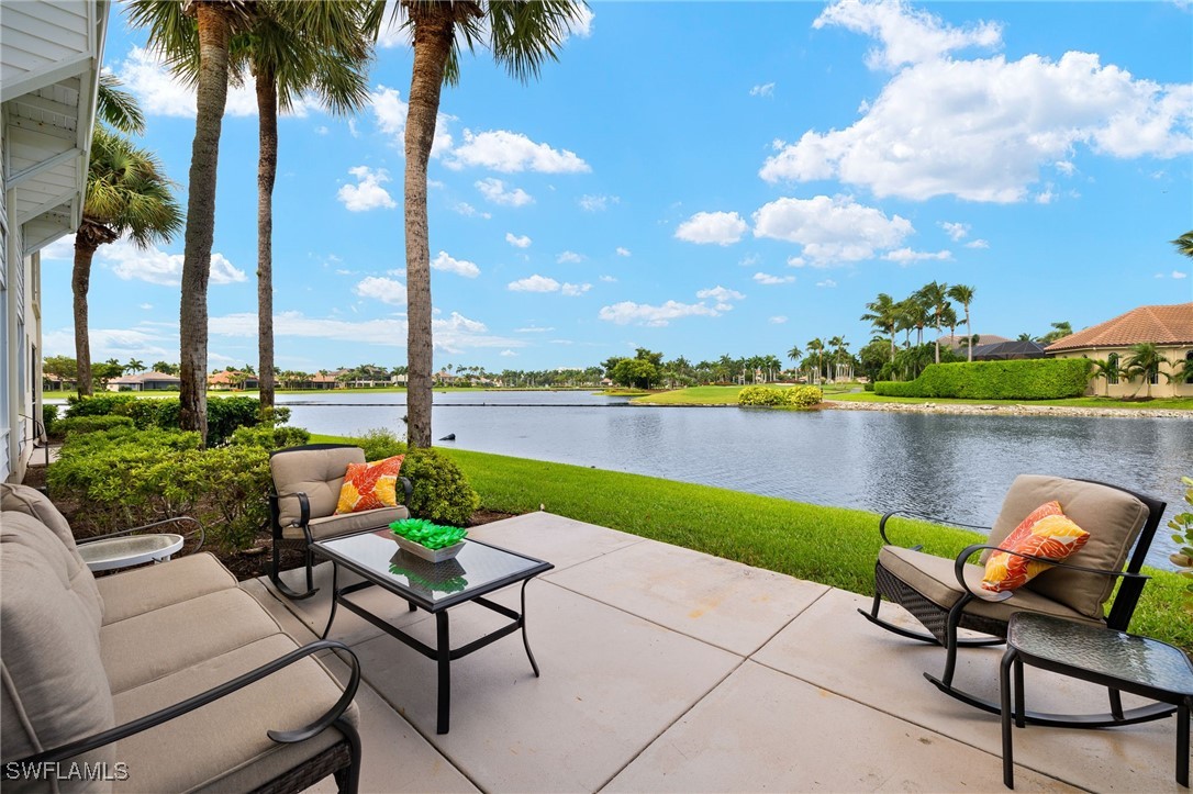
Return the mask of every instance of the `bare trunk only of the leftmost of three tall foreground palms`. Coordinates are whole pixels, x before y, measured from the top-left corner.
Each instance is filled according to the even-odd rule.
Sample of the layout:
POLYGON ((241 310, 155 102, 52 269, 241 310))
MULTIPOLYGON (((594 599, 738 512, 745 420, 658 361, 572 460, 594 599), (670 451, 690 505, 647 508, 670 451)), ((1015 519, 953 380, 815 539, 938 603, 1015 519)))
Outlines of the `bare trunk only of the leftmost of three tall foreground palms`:
POLYGON ((208 435, 208 279, 215 236, 216 166, 228 100, 228 39, 231 24, 218 4, 199 2, 199 86, 186 205, 186 252, 179 311, 179 426, 208 435))

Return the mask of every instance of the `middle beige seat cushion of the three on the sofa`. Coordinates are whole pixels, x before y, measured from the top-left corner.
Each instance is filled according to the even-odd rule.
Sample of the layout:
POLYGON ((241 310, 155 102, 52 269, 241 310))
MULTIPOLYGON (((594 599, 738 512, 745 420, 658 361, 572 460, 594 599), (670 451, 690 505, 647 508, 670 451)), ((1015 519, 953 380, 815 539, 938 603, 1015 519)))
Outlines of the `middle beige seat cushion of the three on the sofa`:
POLYGON ((228 588, 104 626, 100 658, 119 694, 279 631, 253 596, 228 588))

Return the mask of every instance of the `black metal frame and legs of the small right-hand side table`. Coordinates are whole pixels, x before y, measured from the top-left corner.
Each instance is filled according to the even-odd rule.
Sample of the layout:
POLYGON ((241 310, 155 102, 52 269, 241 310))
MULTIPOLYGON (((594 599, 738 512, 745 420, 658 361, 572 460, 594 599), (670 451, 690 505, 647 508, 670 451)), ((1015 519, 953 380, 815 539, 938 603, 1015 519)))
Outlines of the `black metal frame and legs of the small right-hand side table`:
MULTIPOLYGON (((1012 619, 1013 620, 1013 619, 1012 619)), ((1099 628, 1094 631, 1108 631, 1113 632, 1112 628, 1099 628)), ((1119 632, 1123 633, 1123 632, 1119 632)), ((1009 634, 1009 632, 1008 632, 1009 634)), ((1151 700, 1157 700, 1164 703, 1172 703, 1176 706, 1176 782, 1185 788, 1189 787, 1189 707, 1191 700, 1187 696, 1174 694, 1167 689, 1161 689, 1157 687, 1149 687, 1146 684, 1139 683, 1137 681, 1130 681, 1125 678, 1119 678, 1118 676, 1106 675, 1101 672, 1095 672, 1086 670, 1084 668, 1076 664, 1064 664, 1056 662, 1055 659, 1040 658, 1033 656, 1032 653, 1024 651, 1022 649, 1015 647, 1009 641, 1007 644, 1007 651, 1002 656, 1002 663, 999 666, 999 699, 1001 706, 1002 717, 1002 782, 1007 788, 1014 788, 1014 759, 1012 757, 1012 721, 1014 721, 1015 727, 1025 727, 1030 721, 1025 719, 1027 714, 1026 709, 1026 696, 1024 694, 1024 663, 1032 665, 1033 668, 1039 668, 1040 670, 1047 670, 1050 672, 1056 672, 1070 678, 1077 678, 1078 681, 1088 681, 1093 684, 1106 687, 1111 691, 1111 703, 1112 708, 1117 714, 1123 713, 1123 702, 1120 699, 1120 691, 1127 691, 1133 695, 1139 695, 1142 697, 1149 697, 1151 700), (1014 671, 1014 709, 1010 705, 1010 675, 1014 671)), ((1074 718, 1078 720, 1080 718, 1074 718)), ((1083 727, 1080 722, 1075 722, 1070 727, 1083 727)))

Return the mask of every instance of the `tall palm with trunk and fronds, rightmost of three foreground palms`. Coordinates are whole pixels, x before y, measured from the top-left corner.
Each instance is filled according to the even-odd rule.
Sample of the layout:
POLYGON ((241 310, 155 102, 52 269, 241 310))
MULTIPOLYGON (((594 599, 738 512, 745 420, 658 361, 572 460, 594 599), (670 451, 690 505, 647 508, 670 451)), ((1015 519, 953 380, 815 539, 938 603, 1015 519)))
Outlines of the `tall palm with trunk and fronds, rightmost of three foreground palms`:
MULTIPOLYGON (((414 43, 409 110, 406 117, 406 287, 407 287, 407 441, 431 446, 432 336, 431 249, 427 228, 427 165, 439 116, 443 85, 459 82, 459 45, 483 41, 493 57, 523 82, 537 77, 558 49, 582 5, 569 0, 400 0, 395 15, 414 43)), ((371 30, 379 31, 384 4, 372 7, 371 30)))

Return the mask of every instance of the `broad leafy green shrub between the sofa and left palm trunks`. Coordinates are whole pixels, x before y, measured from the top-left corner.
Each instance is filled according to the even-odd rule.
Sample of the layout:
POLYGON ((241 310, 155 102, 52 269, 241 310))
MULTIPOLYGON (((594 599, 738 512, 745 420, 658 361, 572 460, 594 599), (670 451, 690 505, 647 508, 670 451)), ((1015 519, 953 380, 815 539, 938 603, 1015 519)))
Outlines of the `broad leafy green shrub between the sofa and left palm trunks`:
POLYGON ((199 449, 197 433, 137 430, 128 417, 111 418, 124 426, 72 434, 48 472, 51 491, 79 504, 76 529, 112 532, 191 515, 227 550, 253 541, 268 514, 267 449, 199 449))

